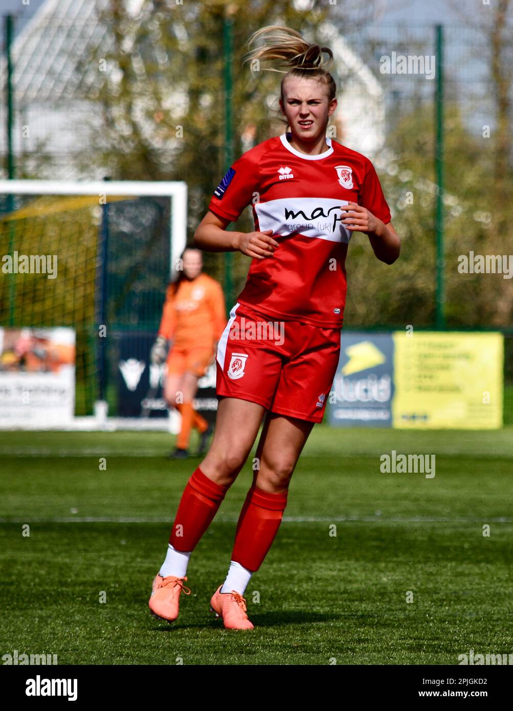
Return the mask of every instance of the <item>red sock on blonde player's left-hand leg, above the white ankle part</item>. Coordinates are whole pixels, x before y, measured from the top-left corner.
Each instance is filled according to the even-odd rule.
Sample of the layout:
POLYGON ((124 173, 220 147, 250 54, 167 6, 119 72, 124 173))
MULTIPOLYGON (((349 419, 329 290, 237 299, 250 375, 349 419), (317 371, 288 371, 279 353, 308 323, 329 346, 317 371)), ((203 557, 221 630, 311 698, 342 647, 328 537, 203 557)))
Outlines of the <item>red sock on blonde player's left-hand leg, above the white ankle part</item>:
POLYGON ((176 550, 194 550, 212 523, 229 486, 208 479, 200 467, 191 474, 183 490, 169 542, 176 550))

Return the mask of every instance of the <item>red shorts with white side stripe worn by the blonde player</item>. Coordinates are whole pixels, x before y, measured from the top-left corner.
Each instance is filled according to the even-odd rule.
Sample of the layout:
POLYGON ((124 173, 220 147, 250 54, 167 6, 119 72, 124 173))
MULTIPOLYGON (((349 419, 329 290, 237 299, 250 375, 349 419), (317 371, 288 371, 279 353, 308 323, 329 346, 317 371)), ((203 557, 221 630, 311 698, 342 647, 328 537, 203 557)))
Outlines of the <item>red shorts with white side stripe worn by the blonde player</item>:
POLYGON ((340 328, 272 318, 235 304, 217 345, 217 395, 321 422, 338 366, 340 328))

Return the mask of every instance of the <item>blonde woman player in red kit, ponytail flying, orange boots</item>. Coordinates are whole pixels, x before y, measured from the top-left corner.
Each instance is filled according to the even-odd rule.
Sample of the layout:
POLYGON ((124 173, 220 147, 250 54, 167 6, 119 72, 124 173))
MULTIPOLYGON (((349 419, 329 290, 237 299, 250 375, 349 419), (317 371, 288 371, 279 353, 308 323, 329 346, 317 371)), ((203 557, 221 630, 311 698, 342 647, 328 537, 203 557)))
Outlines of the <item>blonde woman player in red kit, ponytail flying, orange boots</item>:
POLYGON ((225 627, 252 629, 244 590, 279 529, 298 457, 320 422, 338 365, 345 305, 345 257, 352 232, 364 232, 376 257, 392 264, 400 240, 374 166, 326 137, 335 82, 323 68, 329 48, 286 27, 265 27, 249 52, 286 65, 281 112, 290 132, 263 141, 234 162, 195 232, 212 252, 252 257, 249 274, 217 346, 220 399, 210 449, 185 486, 168 554, 153 581, 150 608, 178 616, 190 553, 207 530, 252 449, 257 471, 237 523, 225 582, 210 600, 225 627), (254 232, 227 231, 252 205, 254 232))

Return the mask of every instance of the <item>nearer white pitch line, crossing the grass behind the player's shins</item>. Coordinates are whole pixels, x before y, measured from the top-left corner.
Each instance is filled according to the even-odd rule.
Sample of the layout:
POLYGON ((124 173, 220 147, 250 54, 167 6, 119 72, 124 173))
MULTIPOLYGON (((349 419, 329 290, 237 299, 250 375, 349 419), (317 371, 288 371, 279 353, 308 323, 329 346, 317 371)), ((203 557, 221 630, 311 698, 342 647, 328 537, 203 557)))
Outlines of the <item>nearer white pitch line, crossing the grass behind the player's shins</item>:
MULTIPOLYGON (((236 523, 237 518, 216 518, 213 523, 236 523)), ((284 523, 513 523, 513 518, 436 518, 414 516, 401 518, 394 516, 284 516, 284 523)), ((137 516, 62 516, 55 518, 0 518, 0 523, 173 523, 174 518, 139 518, 137 516)))

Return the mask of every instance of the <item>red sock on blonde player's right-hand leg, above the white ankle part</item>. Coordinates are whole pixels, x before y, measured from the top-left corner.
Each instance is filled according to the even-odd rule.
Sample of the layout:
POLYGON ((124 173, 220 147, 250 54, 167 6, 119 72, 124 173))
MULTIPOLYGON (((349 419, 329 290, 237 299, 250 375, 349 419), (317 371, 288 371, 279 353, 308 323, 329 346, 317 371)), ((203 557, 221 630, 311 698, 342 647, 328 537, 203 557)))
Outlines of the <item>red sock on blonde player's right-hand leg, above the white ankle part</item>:
POLYGON ((288 491, 268 493, 258 486, 249 489, 237 523, 232 557, 256 572, 276 538, 287 505, 288 491))

